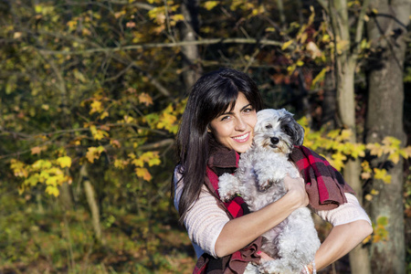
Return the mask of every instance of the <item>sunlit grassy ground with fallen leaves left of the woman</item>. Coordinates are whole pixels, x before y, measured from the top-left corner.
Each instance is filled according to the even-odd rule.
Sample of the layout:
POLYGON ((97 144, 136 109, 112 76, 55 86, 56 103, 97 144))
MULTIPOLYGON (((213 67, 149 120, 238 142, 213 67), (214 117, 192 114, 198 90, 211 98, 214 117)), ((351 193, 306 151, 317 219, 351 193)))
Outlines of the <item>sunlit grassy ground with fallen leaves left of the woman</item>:
POLYGON ((93 237, 89 213, 81 208, 63 213, 50 206, 39 214, 22 197, 3 202, 4 196, 2 274, 191 273, 195 265, 184 229, 170 223, 170 217, 147 219, 111 209, 111 221, 102 223, 102 244, 93 237))

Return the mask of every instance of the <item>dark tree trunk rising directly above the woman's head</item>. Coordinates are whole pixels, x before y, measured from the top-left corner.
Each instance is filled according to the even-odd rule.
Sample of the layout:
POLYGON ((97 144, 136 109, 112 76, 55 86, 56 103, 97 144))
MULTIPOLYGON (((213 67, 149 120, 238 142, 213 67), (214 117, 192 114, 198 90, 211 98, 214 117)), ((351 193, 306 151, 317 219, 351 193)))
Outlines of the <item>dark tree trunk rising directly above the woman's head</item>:
MULTIPOLYGON (((198 0, 184 0, 182 5, 184 24, 180 26, 182 40, 195 41, 199 29, 198 0)), ((183 46, 183 78, 186 89, 191 88, 202 73, 198 46, 183 46)))

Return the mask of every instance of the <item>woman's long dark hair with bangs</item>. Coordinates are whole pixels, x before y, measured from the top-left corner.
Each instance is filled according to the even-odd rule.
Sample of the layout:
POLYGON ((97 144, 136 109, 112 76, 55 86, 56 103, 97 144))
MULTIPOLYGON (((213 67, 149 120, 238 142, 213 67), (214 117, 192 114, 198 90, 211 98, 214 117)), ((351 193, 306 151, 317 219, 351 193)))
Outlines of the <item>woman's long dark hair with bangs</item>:
MULTIPOLYGON (((245 95, 256 111, 262 109, 256 83, 246 73, 231 68, 205 74, 195 82, 189 94, 177 133, 179 172, 183 174, 181 181, 184 181, 178 205, 180 220, 184 219, 205 183, 205 168, 213 138, 207 128, 211 121, 228 108, 234 109, 239 92, 245 95)), ((174 195, 174 184, 172 193, 174 195)))

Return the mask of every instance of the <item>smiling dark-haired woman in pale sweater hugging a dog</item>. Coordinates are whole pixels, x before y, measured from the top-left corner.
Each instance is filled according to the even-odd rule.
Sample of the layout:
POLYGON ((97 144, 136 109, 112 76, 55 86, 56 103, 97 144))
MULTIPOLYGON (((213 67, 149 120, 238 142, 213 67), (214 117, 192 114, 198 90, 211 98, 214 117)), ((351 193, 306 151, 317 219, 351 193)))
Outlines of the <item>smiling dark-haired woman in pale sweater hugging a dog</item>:
MULTIPOLYGON (((260 235, 276 227, 293 210, 309 204, 303 180, 290 177, 285 179, 288 193, 257 212, 248 213, 239 197, 233 202, 236 206, 222 205, 218 200, 216 183, 210 182, 220 174, 235 171, 238 153, 246 152, 251 146, 256 112, 261 109, 262 100, 254 81, 245 73, 229 68, 198 79, 189 95, 177 135, 180 161, 174 171, 172 188, 175 186, 174 205, 195 253, 208 264, 197 265, 197 269, 204 267, 198 272, 210 269, 219 258, 233 260, 236 256, 230 255, 238 250, 244 255, 250 243, 259 248, 256 239, 260 235), (233 207, 237 208, 234 216, 233 207)), ((341 258, 372 233, 371 222, 356 198, 351 194, 345 196, 347 203, 317 212, 333 228, 317 251, 315 264, 308 266, 311 273, 341 258)), ((269 259, 255 251, 258 252, 252 251, 246 263, 260 257, 269 259)), ((226 260, 218 268, 224 270, 228 266, 226 260)), ((243 264, 239 269, 244 267, 243 264)))

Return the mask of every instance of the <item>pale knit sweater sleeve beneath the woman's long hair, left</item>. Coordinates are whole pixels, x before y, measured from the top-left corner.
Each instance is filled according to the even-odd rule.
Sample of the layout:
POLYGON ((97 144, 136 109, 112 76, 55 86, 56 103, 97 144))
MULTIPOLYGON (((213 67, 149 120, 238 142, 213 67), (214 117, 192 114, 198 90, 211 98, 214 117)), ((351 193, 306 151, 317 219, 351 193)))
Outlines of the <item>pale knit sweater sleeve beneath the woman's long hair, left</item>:
MULTIPOLYGON (((175 170, 174 182, 178 182, 180 178, 181 174, 175 170)), ((182 184, 184 182, 179 182, 175 188, 174 206, 177 209, 182 193, 182 184)), ((228 221, 227 213, 218 206, 216 198, 207 191, 204 185, 200 196, 184 217, 184 227, 195 246, 197 257, 201 256, 199 253, 204 251, 216 258, 216 239, 228 221)))

